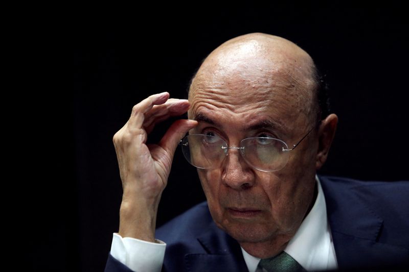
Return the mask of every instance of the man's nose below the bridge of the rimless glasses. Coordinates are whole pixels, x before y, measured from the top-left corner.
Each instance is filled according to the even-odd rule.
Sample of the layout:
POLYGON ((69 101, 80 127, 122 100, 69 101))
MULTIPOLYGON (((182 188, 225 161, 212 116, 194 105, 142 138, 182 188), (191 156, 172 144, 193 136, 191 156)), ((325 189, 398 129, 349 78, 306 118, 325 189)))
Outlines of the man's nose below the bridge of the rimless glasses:
POLYGON ((244 161, 239 149, 229 149, 222 164, 221 181, 235 190, 249 189, 254 186, 253 169, 244 161))

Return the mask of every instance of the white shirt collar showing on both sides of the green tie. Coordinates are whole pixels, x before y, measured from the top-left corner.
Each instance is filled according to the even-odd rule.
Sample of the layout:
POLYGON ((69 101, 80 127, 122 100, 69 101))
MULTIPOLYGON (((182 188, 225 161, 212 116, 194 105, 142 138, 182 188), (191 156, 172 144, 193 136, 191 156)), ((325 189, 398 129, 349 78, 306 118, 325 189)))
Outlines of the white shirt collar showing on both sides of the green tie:
MULTIPOLYGON (((331 240, 328 233, 327 208, 320 179, 315 176, 318 193, 314 206, 304 218, 296 235, 288 242, 284 251, 307 270, 326 267, 331 240), (309 254, 306 254, 308 252, 309 254)), ((248 271, 254 272, 260 261, 241 248, 248 271)), ((325 269, 325 268, 324 268, 325 269)))

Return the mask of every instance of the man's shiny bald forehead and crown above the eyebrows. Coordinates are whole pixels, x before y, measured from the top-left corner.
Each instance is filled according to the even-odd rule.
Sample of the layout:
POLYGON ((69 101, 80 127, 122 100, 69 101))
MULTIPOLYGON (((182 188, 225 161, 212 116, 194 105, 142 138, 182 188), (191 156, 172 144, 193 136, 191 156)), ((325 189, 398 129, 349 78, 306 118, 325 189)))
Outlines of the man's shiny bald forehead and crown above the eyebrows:
POLYGON ((311 58, 289 42, 249 39, 216 48, 196 73, 189 118, 209 109, 219 118, 268 115, 283 122, 311 113, 311 58))

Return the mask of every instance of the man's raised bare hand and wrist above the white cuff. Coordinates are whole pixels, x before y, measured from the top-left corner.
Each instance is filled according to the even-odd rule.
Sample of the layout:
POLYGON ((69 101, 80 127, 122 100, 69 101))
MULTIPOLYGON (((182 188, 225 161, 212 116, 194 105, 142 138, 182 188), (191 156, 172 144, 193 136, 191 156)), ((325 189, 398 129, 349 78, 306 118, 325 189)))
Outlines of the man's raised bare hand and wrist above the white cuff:
POLYGON ((169 93, 154 94, 133 106, 125 124, 113 136, 117 152, 123 197, 119 234, 154 241, 157 207, 165 189, 179 140, 197 125, 177 120, 159 144, 146 145, 156 123, 189 109, 187 100, 169 99, 169 93))

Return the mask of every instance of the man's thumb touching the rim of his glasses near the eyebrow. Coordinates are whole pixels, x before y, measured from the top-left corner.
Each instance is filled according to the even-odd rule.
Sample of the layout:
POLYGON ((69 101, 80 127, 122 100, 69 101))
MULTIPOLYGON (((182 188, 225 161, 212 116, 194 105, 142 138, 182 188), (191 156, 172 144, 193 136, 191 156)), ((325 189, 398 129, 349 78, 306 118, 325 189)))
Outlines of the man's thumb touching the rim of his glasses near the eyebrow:
POLYGON ((198 122, 195 120, 180 119, 175 121, 165 133, 159 145, 173 157, 180 139, 197 124, 198 122))

